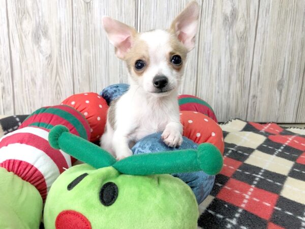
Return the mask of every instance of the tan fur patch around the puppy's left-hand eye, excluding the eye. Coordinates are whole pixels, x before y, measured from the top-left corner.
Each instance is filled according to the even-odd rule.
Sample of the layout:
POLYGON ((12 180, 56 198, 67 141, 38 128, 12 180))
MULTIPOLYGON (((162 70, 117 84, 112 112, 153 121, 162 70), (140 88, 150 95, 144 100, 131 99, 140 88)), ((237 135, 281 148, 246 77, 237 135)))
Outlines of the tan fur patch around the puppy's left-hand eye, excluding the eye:
POLYGON ((145 41, 139 39, 139 34, 133 37, 133 45, 126 54, 125 61, 127 63, 129 73, 135 72, 138 76, 141 76, 145 71, 146 67, 144 67, 143 70, 140 71, 135 70, 134 66, 137 60, 144 61, 146 67, 149 64, 148 45, 145 41))

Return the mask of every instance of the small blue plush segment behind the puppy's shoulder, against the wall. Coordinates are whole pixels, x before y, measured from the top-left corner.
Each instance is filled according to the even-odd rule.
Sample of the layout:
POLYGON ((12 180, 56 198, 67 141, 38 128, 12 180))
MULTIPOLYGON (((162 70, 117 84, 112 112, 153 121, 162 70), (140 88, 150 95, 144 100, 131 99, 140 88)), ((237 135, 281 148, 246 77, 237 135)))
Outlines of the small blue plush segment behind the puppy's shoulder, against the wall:
POLYGON ((128 89, 129 89, 129 84, 126 83, 112 84, 107 88, 105 88, 100 93, 100 96, 102 96, 106 100, 107 104, 110 105, 113 99, 120 97, 125 92, 127 92, 128 89))

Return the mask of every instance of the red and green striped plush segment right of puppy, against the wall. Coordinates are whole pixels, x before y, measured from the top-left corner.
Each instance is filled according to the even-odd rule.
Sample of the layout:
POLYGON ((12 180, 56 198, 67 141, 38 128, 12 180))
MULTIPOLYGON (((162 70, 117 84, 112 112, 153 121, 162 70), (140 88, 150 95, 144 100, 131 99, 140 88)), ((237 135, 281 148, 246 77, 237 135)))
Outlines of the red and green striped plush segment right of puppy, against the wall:
POLYGON ((191 110, 203 113, 218 123, 214 110, 204 100, 192 95, 180 95, 178 99, 180 110, 191 110))

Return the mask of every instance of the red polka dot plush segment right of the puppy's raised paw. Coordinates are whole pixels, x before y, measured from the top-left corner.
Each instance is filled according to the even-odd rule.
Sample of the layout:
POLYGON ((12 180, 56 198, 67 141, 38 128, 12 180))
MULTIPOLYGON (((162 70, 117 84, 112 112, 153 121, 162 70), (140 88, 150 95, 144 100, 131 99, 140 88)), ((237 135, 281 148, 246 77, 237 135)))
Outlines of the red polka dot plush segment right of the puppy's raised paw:
POLYGON ((214 120, 197 111, 180 111, 180 122, 184 136, 197 144, 209 142, 224 152, 222 129, 214 120))

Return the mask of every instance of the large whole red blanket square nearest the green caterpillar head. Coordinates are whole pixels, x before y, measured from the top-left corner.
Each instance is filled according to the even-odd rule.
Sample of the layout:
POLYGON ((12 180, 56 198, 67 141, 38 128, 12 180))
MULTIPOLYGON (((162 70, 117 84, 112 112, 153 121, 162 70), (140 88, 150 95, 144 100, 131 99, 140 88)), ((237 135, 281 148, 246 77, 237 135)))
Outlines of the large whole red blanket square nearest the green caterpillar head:
POLYGON ((279 195, 231 178, 217 197, 268 220, 279 195))

